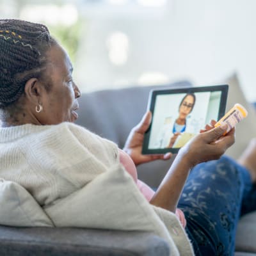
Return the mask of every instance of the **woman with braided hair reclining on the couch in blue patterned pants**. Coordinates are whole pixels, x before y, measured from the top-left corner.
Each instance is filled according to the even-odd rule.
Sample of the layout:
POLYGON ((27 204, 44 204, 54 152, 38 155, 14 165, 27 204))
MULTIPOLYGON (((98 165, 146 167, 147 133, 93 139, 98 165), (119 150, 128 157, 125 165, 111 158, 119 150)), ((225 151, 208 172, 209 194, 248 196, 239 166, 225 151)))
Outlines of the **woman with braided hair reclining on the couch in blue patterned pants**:
MULTIPOLYGON (((124 150, 72 124, 77 119, 77 99, 81 96, 72 70, 67 52, 44 25, 0 20, 0 178, 20 184, 43 209, 58 205, 63 198, 83 188, 87 189, 83 194, 86 200, 79 202, 81 207, 90 200, 93 204, 98 196, 106 194, 104 200, 108 201, 97 200, 99 211, 90 216, 90 223, 108 220, 109 223, 97 222, 102 223, 102 228, 143 230, 143 223, 129 226, 135 215, 122 218, 125 212, 121 211, 122 214, 115 216, 118 220, 112 220, 111 216, 122 207, 134 214, 136 207, 147 209, 143 210, 145 219, 148 212, 155 214, 154 220, 161 219, 161 222, 154 222, 159 225, 152 223, 150 228, 161 228, 157 234, 167 237, 172 255, 232 254, 241 206, 254 192, 255 142, 239 159, 240 164, 221 157, 234 143, 234 129, 222 136, 227 127, 213 128, 212 122, 180 150, 154 193, 137 179, 136 165, 168 159, 170 155, 141 155, 143 135, 150 125, 151 114, 146 113, 132 129, 124 150), (125 176, 125 171, 133 179, 125 176), (106 175, 111 187, 92 190, 95 183, 102 184, 99 182, 106 175), (119 201, 118 197, 108 198, 115 196, 109 192, 111 189, 123 189, 118 182, 120 179, 116 179, 118 175, 123 175, 131 188, 131 191, 122 191, 124 198, 119 201), (139 189, 130 180, 132 184, 135 181, 139 189), (102 189, 104 193, 100 192, 102 189), (130 193, 132 196, 128 197, 130 193), (108 207, 106 202, 111 205, 108 207), (177 205, 184 214, 177 211, 177 205), (116 208, 113 210, 113 207, 116 208)), ((255 205, 253 207, 255 209, 255 205)), ((68 207, 63 211, 68 212, 68 207)), ((83 212, 84 216, 88 214, 89 209, 83 212)), ((61 219, 62 215, 59 212, 57 217, 61 219)), ((82 219, 81 227, 84 226, 82 219)))

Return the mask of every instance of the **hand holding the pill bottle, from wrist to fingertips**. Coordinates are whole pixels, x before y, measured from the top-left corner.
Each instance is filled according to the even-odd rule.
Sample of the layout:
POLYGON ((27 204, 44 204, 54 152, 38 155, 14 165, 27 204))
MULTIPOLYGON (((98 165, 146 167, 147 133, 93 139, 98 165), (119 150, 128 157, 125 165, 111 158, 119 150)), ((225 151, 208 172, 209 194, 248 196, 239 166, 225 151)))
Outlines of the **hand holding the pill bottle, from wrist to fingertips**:
POLYGON ((235 129, 223 136, 227 125, 214 128, 214 122, 206 125, 205 130, 195 136, 180 149, 182 159, 191 164, 191 168, 198 163, 219 159, 235 142, 235 129))

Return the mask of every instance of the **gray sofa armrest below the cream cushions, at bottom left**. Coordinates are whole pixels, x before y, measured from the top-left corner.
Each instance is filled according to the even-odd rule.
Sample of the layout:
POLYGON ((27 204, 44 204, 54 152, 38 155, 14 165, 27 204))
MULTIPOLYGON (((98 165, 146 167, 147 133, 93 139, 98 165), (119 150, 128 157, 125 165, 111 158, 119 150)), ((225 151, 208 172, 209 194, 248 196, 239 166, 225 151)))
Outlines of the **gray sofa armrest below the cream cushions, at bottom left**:
POLYGON ((0 226, 0 255, 169 256, 166 241, 148 232, 0 226))

